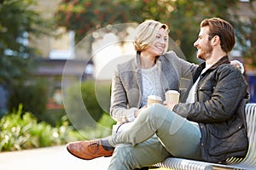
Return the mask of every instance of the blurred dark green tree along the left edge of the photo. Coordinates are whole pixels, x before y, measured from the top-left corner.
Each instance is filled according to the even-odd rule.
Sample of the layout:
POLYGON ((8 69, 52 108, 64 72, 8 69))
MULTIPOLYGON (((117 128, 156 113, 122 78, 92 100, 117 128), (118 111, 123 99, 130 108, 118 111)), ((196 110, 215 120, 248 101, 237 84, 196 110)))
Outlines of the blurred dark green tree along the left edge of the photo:
MULTIPOLYGON (((0 1, 0 86, 9 92, 4 96, 9 111, 22 103, 26 111, 40 113, 47 99, 44 87, 35 85, 38 80, 30 77, 35 68, 33 59, 38 57, 37 49, 29 47, 30 36, 47 35, 51 28, 50 20, 33 9, 35 5, 34 0, 0 1)), ((5 108, 0 108, 2 111, 5 108)))

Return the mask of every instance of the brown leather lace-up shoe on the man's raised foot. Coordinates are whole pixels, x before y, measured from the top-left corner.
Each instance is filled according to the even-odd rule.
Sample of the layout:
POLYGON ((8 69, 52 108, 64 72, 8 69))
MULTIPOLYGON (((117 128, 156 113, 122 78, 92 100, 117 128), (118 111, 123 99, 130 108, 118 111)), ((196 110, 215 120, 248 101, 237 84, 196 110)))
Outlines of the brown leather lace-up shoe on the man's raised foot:
POLYGON ((80 159, 91 160, 101 156, 112 156, 113 150, 105 150, 100 139, 84 140, 67 144, 67 150, 80 159))

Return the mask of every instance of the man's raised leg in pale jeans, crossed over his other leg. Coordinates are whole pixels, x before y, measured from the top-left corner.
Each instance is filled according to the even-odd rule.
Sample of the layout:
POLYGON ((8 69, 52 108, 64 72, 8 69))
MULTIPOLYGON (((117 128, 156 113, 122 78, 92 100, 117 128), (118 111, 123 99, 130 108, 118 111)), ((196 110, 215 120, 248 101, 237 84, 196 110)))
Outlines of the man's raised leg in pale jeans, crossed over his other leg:
POLYGON ((109 144, 136 145, 154 133, 172 156, 201 159, 199 127, 162 105, 150 105, 125 132, 108 137, 109 144))

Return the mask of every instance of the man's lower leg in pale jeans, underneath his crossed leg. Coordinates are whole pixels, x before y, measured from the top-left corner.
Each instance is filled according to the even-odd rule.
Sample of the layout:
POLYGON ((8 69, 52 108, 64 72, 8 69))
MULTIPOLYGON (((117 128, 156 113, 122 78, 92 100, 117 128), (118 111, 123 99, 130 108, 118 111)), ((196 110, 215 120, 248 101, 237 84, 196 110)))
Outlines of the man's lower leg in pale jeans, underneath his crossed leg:
POLYGON ((154 135, 135 146, 131 144, 117 144, 108 170, 131 170, 136 167, 147 167, 163 161, 169 156, 171 156, 170 153, 154 135))

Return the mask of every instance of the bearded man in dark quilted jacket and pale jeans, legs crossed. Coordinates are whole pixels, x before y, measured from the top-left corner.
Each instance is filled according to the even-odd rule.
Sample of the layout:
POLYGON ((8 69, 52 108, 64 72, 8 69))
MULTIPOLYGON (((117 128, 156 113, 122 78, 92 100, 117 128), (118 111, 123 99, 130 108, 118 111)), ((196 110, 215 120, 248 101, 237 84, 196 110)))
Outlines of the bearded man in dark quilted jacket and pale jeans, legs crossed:
MULTIPOLYGON (((127 131, 99 141, 96 152, 107 153, 105 156, 111 156, 117 144, 125 144, 117 145, 108 169, 147 166, 131 150, 136 150, 139 143, 154 133, 170 156, 211 162, 246 156, 243 109, 248 97, 247 82, 241 72, 230 65, 228 54, 234 45, 230 23, 218 18, 203 20, 194 46, 198 49, 197 57, 205 63, 195 73, 186 104, 170 103, 169 108, 150 105, 141 109, 127 131)), ((67 144, 67 150, 73 155, 96 154, 91 153, 89 147, 90 141, 67 144)))

